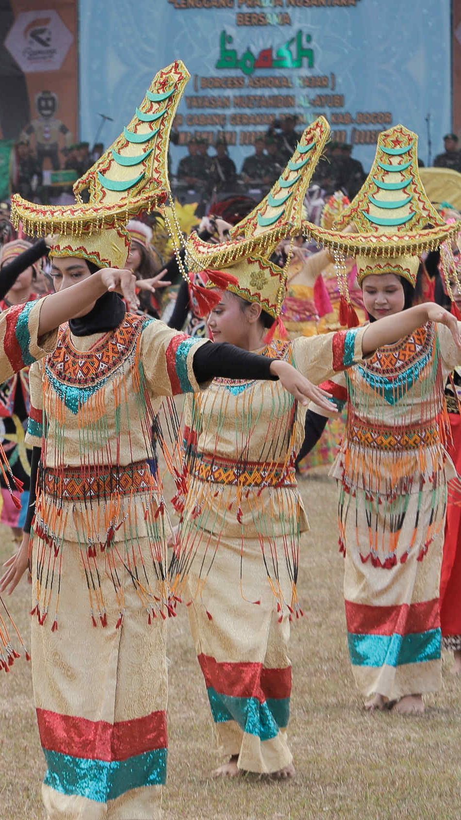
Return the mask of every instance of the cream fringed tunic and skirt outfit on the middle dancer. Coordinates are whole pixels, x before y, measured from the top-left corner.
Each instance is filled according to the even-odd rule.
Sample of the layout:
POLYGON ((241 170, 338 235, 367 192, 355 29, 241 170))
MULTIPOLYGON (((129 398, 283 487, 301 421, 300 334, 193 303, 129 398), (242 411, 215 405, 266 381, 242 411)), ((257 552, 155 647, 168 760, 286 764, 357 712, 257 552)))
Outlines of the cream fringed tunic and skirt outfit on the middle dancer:
MULTIPOLYGON (((314 382, 362 359, 363 329, 264 349, 314 382)), ((279 382, 215 379, 188 400, 189 490, 171 565, 184 591, 221 751, 241 769, 276 772, 292 755, 290 620, 299 535, 294 477, 305 408, 279 382)))

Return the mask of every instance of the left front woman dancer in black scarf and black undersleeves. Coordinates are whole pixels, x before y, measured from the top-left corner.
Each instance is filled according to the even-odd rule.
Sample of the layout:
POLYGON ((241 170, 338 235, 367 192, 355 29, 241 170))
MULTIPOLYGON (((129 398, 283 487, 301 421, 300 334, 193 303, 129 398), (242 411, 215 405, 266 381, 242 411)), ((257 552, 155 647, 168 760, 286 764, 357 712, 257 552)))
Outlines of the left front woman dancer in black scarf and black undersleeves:
MULTIPOLYGON (((180 62, 157 75, 138 109, 140 122, 160 120, 168 73, 184 85, 180 62)), ((144 131, 135 133, 140 139, 144 131)), ((166 167, 167 140, 161 145, 166 167)), ((101 158, 99 183, 99 167, 122 150, 117 141, 101 158)), ((112 189, 115 175, 112 167, 112 189)), ((50 256, 55 286, 65 292, 72 281, 98 276, 95 259, 103 265, 126 258, 121 221, 127 208, 144 210, 151 196, 144 189, 144 202, 46 212, 22 201, 16 212, 30 227, 40 220, 62 226, 50 256)), ((31 549, 32 675, 49 818, 150 820, 159 813, 167 768, 166 618, 174 610, 156 453, 156 442, 166 442, 157 417, 164 397, 249 371, 280 377, 301 401, 311 392, 287 362, 190 339, 126 313, 112 294, 62 328, 53 357, 31 368, 33 474, 40 462, 34 523, 0 588, 14 589, 31 549)), ((174 426, 172 403, 162 417, 174 426)), ((176 453, 166 446, 164 453, 180 483, 176 453)))

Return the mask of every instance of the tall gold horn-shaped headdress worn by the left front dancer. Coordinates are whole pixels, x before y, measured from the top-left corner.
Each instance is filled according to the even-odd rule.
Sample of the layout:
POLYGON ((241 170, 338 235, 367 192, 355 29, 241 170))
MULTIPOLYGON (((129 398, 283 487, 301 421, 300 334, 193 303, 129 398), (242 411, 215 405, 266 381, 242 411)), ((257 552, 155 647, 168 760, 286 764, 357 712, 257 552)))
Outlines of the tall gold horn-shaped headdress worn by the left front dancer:
POLYGON ((51 255, 83 257, 99 267, 123 267, 130 249, 126 223, 170 194, 168 142, 189 71, 180 60, 158 71, 135 116, 74 185, 75 205, 45 206, 11 199, 11 220, 26 234, 58 234, 51 255), (81 192, 89 190, 89 203, 81 192))

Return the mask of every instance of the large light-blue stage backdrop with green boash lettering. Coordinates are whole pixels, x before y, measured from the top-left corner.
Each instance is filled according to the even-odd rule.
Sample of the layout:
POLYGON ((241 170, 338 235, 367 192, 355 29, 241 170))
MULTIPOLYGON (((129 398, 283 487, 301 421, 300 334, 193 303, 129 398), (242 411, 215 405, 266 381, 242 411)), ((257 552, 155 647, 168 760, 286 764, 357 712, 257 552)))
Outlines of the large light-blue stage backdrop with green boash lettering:
POLYGON ((259 131, 325 114, 368 168, 377 134, 403 122, 432 158, 451 130, 450 0, 80 0, 80 130, 107 144, 155 72, 181 57, 192 79, 180 146, 224 134, 240 169, 259 131))

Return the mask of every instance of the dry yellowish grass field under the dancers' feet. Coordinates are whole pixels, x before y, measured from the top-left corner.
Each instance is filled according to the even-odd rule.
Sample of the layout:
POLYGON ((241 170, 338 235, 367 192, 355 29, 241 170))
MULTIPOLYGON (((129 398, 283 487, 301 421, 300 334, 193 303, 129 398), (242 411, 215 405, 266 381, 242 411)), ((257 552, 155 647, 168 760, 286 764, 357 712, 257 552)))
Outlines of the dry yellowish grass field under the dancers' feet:
MULTIPOLYGON (((461 818, 461 680, 444 658, 443 689, 424 717, 368 715, 354 689, 345 641, 335 485, 323 471, 302 482, 312 530, 302 550, 306 617, 293 630, 291 744, 297 777, 287 784, 208 778, 217 764, 203 679, 185 611, 171 621, 170 756, 165 820, 455 820, 461 818)), ((0 531, 0 558, 11 550, 0 531)), ((27 634, 30 588, 12 604, 27 634)), ((30 667, 0 676, 0 820, 39 820, 43 757, 30 667)))

